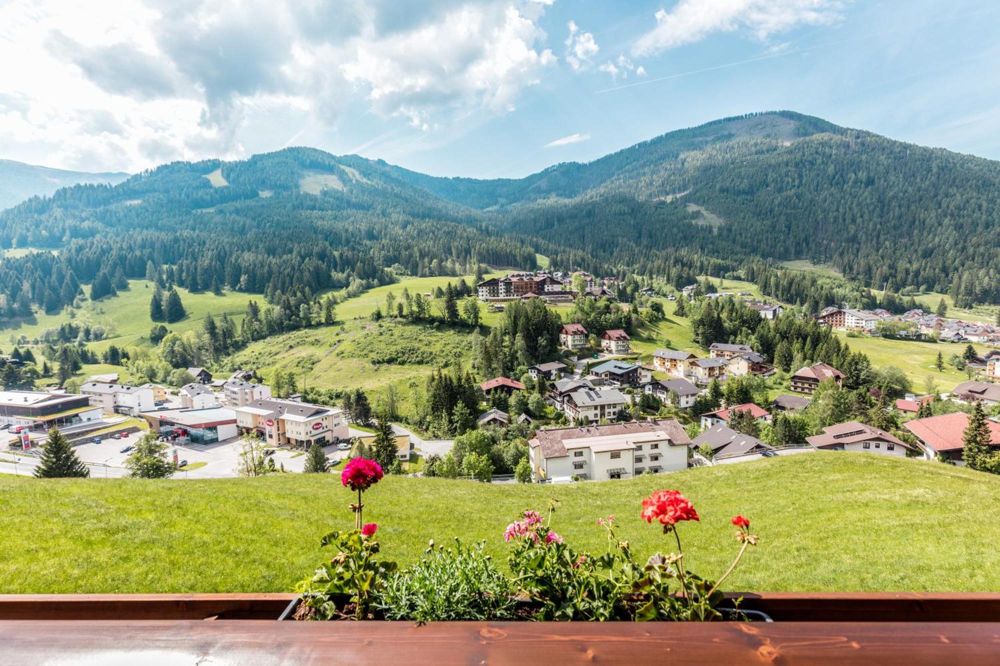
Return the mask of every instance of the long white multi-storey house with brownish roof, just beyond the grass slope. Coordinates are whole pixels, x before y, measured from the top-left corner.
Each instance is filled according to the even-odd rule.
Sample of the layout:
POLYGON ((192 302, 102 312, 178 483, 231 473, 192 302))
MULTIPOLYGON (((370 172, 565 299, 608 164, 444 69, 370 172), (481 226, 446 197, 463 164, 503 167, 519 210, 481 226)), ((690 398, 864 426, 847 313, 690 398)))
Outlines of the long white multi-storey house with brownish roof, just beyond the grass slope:
POLYGON ((539 430, 528 442, 534 481, 602 481, 686 469, 691 440, 674 419, 539 430))

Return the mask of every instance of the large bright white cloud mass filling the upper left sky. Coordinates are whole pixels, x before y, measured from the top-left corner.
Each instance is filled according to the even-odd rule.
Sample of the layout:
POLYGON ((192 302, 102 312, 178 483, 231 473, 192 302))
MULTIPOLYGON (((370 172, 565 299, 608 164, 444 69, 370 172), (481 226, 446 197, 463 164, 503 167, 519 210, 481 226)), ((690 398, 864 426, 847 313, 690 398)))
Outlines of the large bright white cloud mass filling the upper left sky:
POLYGON ((3 157, 138 170, 238 158, 256 126, 335 128, 351 100, 429 131, 507 113, 557 59, 552 0, 0 2, 3 157))

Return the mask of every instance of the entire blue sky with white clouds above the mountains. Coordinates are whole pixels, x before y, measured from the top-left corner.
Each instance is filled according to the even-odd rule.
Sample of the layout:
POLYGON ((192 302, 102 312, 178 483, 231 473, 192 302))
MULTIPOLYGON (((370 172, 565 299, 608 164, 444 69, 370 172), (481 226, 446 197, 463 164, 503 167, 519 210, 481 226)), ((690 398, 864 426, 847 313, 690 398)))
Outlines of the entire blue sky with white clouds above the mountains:
POLYGON ((1000 159, 994 0, 0 0, 0 158, 519 177, 791 109, 1000 159))

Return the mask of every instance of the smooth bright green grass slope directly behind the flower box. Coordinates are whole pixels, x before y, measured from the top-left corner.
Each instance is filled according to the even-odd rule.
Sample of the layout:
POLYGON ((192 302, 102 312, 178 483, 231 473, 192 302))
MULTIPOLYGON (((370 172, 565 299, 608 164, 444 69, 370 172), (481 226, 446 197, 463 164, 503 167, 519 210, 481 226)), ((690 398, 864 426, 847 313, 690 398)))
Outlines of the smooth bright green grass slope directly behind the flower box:
MULTIPOLYGON (((671 548, 639 518, 650 491, 677 488, 700 523, 681 536, 688 565, 719 576, 735 554, 729 518, 762 538, 729 589, 995 590, 1000 587, 1000 478, 918 460, 816 453, 659 477, 563 486, 499 486, 386 477, 365 496, 383 555, 408 564, 429 539, 501 534, 525 508, 559 500, 553 527, 575 547, 605 546, 598 516, 641 557, 671 548)), ((47 592, 284 591, 328 553, 319 538, 349 528, 336 475, 143 481, 0 478, 0 589, 47 592), (24 535, 30 535, 24 538, 24 535), (16 557, 14 554, 16 553, 16 557)))

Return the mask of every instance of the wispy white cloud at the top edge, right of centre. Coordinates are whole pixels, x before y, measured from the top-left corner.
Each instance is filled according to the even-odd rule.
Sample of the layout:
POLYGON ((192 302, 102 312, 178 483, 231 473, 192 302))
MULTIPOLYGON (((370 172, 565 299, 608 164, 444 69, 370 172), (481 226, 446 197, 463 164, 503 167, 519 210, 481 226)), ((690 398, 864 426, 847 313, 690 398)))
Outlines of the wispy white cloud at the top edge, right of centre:
POLYGON ((843 0, 679 0, 656 12, 656 27, 636 41, 632 55, 655 55, 713 32, 746 30, 764 41, 799 25, 833 23, 843 6, 843 0))

